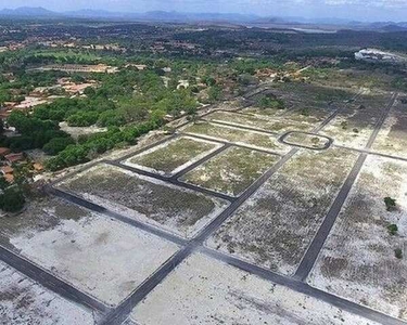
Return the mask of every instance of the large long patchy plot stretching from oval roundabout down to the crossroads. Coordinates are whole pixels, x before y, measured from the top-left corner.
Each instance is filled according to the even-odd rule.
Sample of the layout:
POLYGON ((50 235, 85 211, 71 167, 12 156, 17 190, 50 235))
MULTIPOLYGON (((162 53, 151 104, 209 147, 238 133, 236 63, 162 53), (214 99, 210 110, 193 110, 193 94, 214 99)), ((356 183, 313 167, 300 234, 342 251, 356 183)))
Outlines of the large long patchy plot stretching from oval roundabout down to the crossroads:
POLYGON ((300 151, 232 216, 207 245, 293 274, 357 155, 300 151))

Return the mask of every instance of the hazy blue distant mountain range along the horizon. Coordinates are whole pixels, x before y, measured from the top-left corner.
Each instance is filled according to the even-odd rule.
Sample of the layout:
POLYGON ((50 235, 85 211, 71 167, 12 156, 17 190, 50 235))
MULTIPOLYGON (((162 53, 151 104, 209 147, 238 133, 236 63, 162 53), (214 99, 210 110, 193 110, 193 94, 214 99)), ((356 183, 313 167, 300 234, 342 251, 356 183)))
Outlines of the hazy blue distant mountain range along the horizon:
POLYGON ((21 6, 17 9, 0 10, 0 18, 90 18, 113 21, 142 21, 142 22, 225 22, 249 24, 253 26, 267 25, 339 25, 348 28, 368 28, 382 31, 407 31, 406 23, 378 22, 361 23, 341 18, 304 18, 304 17, 262 17, 254 14, 234 13, 181 13, 166 11, 151 11, 145 13, 110 12, 103 10, 78 10, 68 12, 53 12, 44 8, 21 6))

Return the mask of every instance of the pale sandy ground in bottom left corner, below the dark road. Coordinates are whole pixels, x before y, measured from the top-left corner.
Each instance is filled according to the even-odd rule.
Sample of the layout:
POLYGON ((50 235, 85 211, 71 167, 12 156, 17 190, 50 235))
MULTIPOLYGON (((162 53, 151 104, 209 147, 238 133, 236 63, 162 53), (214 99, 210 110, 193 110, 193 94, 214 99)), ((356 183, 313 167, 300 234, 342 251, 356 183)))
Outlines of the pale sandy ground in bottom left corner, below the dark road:
POLYGON ((0 261, 1 325, 92 325, 91 311, 49 291, 0 261))

